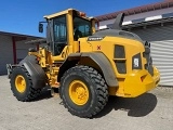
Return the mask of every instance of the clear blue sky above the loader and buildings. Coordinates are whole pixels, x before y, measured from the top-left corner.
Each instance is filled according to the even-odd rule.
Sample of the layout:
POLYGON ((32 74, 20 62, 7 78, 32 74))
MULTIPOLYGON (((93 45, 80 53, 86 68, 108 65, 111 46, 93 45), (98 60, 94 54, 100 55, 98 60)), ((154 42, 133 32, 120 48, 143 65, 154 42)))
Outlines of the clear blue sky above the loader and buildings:
POLYGON ((0 31, 31 36, 38 32, 43 15, 74 8, 88 16, 97 16, 163 0, 1 0, 0 31))

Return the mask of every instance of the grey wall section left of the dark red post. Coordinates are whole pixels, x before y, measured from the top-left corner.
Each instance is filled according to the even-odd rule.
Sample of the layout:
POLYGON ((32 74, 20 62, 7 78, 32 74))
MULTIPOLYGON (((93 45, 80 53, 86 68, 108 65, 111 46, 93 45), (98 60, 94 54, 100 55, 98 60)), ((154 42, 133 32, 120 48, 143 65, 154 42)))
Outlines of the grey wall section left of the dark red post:
POLYGON ((6 74, 6 64, 13 64, 13 42, 10 36, 0 35, 0 75, 6 74))

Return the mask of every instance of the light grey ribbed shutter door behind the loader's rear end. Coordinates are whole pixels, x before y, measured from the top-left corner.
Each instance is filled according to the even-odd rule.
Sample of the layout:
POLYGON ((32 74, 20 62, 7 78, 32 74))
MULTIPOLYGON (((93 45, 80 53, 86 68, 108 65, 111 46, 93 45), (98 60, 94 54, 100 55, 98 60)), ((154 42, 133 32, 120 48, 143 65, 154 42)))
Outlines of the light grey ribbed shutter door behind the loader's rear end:
POLYGON ((152 41, 151 54, 161 73, 160 84, 173 86, 173 40, 152 41))

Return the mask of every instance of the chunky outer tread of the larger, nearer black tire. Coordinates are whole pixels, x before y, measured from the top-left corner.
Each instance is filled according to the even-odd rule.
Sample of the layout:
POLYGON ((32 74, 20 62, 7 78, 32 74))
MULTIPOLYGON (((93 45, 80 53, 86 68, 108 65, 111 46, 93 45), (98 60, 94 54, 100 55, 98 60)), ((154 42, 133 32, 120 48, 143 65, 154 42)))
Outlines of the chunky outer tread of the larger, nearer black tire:
MULTIPOLYGON (((91 118, 93 117, 94 115, 96 115, 97 113, 99 113, 104 106, 107 104, 108 102, 108 88, 107 88, 107 84, 104 80, 104 78, 98 74, 97 70, 95 70, 94 68, 92 67, 89 67, 89 66, 83 66, 83 65, 80 65, 80 66, 75 66, 70 69, 68 69, 64 76, 62 77, 62 80, 65 79, 65 77, 70 74, 71 72, 83 72, 86 76, 89 76, 90 78, 92 78, 92 80, 95 82, 95 90, 97 92, 97 103, 95 104, 95 107, 92 107, 92 109, 90 110, 90 113, 83 115, 82 112, 76 112, 75 109, 71 109, 70 106, 68 105, 68 103, 66 103, 66 101, 64 100, 63 98, 63 93, 61 92, 61 98, 63 99, 63 104, 66 108, 68 108, 68 110, 72 114, 72 115, 76 115, 76 116, 79 116, 79 117, 84 117, 84 118, 91 118)), ((61 80, 61 81, 62 81, 61 80)), ((61 86, 62 87, 62 86, 61 86)))

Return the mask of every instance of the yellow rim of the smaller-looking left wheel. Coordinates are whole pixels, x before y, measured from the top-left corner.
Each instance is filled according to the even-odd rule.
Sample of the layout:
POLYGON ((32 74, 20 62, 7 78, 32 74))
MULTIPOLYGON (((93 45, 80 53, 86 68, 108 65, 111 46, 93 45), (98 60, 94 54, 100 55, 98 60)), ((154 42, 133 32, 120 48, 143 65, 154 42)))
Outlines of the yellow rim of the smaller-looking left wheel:
POLYGON ((23 76, 17 76, 15 78, 15 87, 18 92, 23 93, 26 90, 26 80, 23 76))

